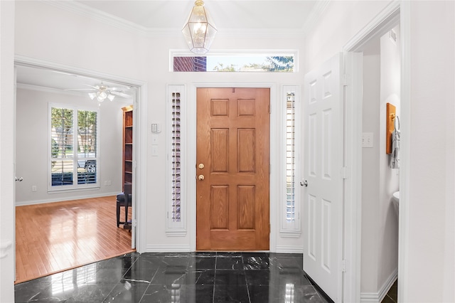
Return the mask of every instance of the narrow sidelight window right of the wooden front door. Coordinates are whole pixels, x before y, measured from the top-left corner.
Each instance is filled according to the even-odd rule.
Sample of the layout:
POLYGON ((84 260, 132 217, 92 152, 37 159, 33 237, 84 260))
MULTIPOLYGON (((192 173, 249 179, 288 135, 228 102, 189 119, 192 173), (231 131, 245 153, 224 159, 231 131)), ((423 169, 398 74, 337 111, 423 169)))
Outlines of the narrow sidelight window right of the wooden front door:
POLYGON ((300 127, 299 102, 296 96, 297 87, 284 87, 283 120, 284 120, 284 203, 282 205, 282 236, 298 237, 300 235, 300 195, 296 171, 299 169, 299 137, 296 134, 300 127))

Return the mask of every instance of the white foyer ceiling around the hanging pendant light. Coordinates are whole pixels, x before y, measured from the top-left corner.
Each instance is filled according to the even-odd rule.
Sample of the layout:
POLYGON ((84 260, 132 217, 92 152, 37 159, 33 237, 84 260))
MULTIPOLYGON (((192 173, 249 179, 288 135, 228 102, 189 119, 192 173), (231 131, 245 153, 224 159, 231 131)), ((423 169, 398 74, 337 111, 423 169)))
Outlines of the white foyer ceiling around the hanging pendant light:
MULTIPOLYGON (((149 1, 75 1, 132 22, 143 28, 183 28, 193 8, 193 0, 149 1)), ((301 30, 316 4, 309 0, 205 0, 210 13, 222 32, 226 29, 279 29, 301 30)))

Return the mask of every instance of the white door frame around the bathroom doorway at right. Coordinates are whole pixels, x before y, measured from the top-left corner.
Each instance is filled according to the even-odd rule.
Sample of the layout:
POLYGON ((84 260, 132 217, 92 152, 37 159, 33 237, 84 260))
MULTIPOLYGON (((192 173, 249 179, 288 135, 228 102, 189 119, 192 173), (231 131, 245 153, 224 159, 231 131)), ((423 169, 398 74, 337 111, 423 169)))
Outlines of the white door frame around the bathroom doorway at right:
MULTIPOLYGON (((378 36, 385 31, 387 26, 391 26, 393 23, 397 23, 397 21, 400 21, 400 24, 402 25, 407 24, 405 22, 409 22, 409 19, 403 18, 404 9, 405 7, 402 7, 401 1, 392 1, 380 12, 380 14, 375 16, 365 28, 359 31, 345 46, 343 46, 345 85, 347 85, 345 92, 346 100, 344 100, 346 102, 344 114, 344 123, 346 124, 346 166, 350 167, 350 177, 346 179, 346 189, 343 193, 343 199, 345 201, 343 214, 343 233, 345 235, 343 243, 343 260, 346 260, 346 272, 344 272, 343 277, 343 302, 360 302, 363 66, 361 60, 359 60, 359 56, 356 55, 355 52, 364 46, 371 38, 378 36)), ((401 27, 401 31, 402 43, 404 43, 403 41, 409 36, 407 36, 406 33, 403 33, 403 27, 401 27)), ((405 58, 405 55, 407 55, 407 53, 403 53, 403 58, 405 58)), ((407 81, 403 78, 404 76, 405 75, 402 74, 402 83, 404 83, 403 81, 407 81)), ((408 102, 409 95, 407 95, 406 92, 403 92, 403 88, 404 86, 402 85, 401 102, 408 102)), ((404 113, 405 108, 401 108, 401 114, 406 115, 404 113)), ((406 157, 404 152, 402 152, 402 155, 403 158, 406 157)), ((408 169, 403 169, 405 169, 405 165, 402 163, 402 171, 404 174, 400 174, 400 193, 402 191, 402 180, 409 174, 408 169)), ((402 199, 400 199, 400 208, 402 208, 401 200, 402 199)), ((400 211, 400 217, 403 216, 402 213, 403 211, 400 211)), ((400 223, 400 230, 401 229, 402 223, 400 223)), ((402 235, 401 231, 400 235, 402 235)), ((405 246, 405 243, 402 243, 401 240, 402 239, 399 241, 400 251, 405 246)), ((403 260, 400 253, 398 264, 399 272, 401 268, 400 263, 402 263, 403 260)), ((398 293, 400 295, 402 290, 400 283, 398 287, 398 293)))

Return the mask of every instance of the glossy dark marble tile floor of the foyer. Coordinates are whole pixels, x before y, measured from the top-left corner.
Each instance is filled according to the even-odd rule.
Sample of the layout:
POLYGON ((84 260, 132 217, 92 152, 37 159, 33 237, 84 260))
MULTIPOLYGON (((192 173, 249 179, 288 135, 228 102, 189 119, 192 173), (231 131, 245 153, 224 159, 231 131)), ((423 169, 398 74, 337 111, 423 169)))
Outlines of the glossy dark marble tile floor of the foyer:
POLYGON ((19 302, 331 302, 301 254, 129 253, 15 286, 19 302))

